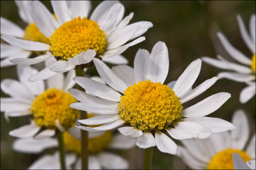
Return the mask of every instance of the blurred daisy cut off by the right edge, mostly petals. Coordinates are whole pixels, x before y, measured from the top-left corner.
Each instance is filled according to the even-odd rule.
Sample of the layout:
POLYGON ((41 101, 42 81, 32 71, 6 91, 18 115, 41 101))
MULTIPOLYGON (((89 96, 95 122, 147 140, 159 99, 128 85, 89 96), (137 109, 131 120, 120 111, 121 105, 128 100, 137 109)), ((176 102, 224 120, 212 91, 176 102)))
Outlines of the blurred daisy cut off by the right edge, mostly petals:
POLYGON ((250 24, 249 24, 250 34, 247 32, 244 22, 240 15, 237 15, 237 20, 238 20, 241 36, 245 44, 247 45, 247 47, 252 52, 252 58, 246 57, 244 54, 242 54, 242 52, 240 52, 233 45, 231 45, 228 42, 227 38, 222 33, 217 33, 222 45, 224 46, 228 54, 241 64, 229 62, 224 58, 222 58, 221 56, 217 56, 218 60, 210 57, 202 57, 202 60, 215 67, 235 71, 235 72, 220 72, 218 76, 221 78, 226 78, 233 81, 246 83, 248 86, 245 87, 240 92, 240 98, 239 98, 241 103, 246 103, 255 95, 255 88, 256 88, 256 84, 255 84, 255 50, 256 50, 255 49, 256 48, 255 14, 253 14, 250 19, 250 24))

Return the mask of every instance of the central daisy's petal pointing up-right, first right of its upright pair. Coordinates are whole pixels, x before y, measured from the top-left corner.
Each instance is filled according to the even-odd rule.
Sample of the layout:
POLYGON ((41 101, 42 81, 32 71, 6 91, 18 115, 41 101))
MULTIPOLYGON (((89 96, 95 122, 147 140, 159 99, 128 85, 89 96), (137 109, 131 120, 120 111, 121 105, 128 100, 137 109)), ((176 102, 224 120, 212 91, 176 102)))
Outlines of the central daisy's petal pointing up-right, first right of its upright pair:
POLYGON ((201 65, 202 60, 197 59, 193 61, 181 74, 173 87, 173 91, 177 97, 180 97, 182 94, 188 91, 190 87, 192 87, 200 73, 201 65))

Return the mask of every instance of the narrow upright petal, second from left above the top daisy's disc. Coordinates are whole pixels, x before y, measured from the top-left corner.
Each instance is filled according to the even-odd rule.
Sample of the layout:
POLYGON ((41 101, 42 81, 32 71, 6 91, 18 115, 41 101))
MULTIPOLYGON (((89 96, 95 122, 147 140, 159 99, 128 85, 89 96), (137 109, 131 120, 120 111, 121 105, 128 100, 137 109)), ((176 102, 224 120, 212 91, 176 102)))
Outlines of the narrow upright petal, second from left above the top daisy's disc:
POLYGON ((71 20, 66 1, 51 1, 51 5, 60 25, 71 20))

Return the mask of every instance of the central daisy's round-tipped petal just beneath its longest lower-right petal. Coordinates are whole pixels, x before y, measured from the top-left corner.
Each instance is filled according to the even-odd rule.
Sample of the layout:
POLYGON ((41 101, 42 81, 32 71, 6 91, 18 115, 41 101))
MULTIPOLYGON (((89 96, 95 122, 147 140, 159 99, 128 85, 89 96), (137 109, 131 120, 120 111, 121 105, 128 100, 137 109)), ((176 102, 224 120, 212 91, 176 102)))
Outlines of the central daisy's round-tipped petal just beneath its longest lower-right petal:
POLYGON ((195 122, 176 122, 174 125, 175 129, 196 133, 198 134, 198 139, 205 139, 212 134, 210 128, 195 122))

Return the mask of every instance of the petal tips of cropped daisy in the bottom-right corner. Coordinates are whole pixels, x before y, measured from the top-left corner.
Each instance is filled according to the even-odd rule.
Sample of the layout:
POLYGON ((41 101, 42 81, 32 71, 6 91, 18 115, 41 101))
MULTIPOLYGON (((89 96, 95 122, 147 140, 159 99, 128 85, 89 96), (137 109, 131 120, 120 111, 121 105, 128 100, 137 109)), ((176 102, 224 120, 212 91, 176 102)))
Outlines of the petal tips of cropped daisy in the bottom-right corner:
MULTIPOLYGON (((255 152, 255 143, 254 143, 254 153, 255 152)), ((255 160, 243 161, 242 157, 238 153, 233 153, 233 165, 235 169, 255 169, 255 160)))

